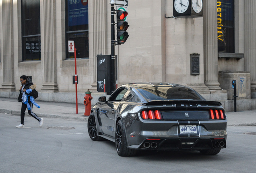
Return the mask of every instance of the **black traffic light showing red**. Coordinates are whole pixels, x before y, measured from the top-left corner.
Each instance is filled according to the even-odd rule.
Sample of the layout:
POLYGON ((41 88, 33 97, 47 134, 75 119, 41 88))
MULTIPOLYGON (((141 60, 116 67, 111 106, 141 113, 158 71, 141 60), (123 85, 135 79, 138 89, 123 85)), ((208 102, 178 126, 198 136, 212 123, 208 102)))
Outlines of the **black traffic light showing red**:
POLYGON ((126 19, 126 16, 128 15, 128 12, 117 10, 116 11, 116 30, 117 30, 117 41, 118 44, 123 44, 126 42, 126 39, 128 38, 128 32, 126 32, 127 28, 129 27, 128 22, 124 21, 126 19))

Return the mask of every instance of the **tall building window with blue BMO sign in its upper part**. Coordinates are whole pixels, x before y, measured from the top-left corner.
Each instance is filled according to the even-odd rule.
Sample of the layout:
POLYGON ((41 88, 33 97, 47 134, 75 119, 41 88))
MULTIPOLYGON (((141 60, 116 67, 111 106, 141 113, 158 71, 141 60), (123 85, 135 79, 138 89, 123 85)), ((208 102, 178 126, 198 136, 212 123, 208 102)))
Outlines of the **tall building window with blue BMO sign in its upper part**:
POLYGON ((66 58, 74 58, 68 52, 68 40, 74 41, 76 58, 89 58, 88 0, 66 0, 66 58))

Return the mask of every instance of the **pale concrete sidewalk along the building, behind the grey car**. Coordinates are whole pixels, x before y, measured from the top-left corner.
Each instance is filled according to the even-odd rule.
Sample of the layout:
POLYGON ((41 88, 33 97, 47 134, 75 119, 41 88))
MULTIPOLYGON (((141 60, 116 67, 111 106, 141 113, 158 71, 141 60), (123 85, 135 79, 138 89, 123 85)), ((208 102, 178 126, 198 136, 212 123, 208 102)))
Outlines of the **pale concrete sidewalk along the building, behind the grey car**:
MULTIPOLYGON (((75 103, 58 103, 36 101, 40 109, 33 107, 33 112, 39 117, 52 117, 64 119, 76 119, 87 121, 88 116, 85 116, 85 105, 78 104, 78 114, 76 114, 75 103)), ((21 114, 21 103, 17 99, 0 97, 0 113, 19 115, 21 114)), ((26 114, 28 115, 27 111, 26 114)), ((227 112, 228 125, 254 125, 256 126, 256 110, 254 111, 238 111, 227 112)))

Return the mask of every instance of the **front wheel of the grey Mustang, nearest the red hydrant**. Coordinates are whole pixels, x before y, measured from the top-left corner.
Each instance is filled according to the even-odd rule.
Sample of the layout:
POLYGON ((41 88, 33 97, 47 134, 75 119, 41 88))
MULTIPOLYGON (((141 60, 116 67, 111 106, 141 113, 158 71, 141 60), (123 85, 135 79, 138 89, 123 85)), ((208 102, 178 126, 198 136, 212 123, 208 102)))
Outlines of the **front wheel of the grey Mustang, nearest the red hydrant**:
POLYGON ((103 138, 97 135, 96 121, 93 113, 91 113, 91 115, 88 118, 87 129, 91 140, 103 141, 103 138))

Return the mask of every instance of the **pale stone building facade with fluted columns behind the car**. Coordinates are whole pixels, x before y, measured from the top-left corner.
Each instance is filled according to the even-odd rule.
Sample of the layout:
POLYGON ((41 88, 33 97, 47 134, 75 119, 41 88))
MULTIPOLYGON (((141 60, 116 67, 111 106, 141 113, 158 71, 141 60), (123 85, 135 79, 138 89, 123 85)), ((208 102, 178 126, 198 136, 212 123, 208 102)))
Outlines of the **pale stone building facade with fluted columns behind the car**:
MULTIPOLYGON (((39 99, 75 101, 74 58, 67 53, 67 35, 72 33, 67 11, 70 3, 82 2, 87 2, 88 28, 79 32, 88 33, 88 57, 77 58, 78 101, 83 103, 87 89, 95 98, 105 95, 97 92, 96 56, 111 54, 110 0, 38 0, 39 60, 24 59, 26 36, 22 27, 29 20, 23 16, 25 1, 31 0, 0 0, 0 97, 16 97, 19 77, 25 74, 37 84, 39 99)), ((203 0, 202 17, 175 18, 173 0, 128 0, 130 36, 124 44, 115 46, 117 84, 184 84, 208 100, 221 101, 231 111, 231 81, 237 80, 237 110, 256 109, 256 2, 233 1, 233 52, 218 52, 221 3, 224 1, 203 0), (199 55, 196 75, 191 73, 193 54, 199 55)))

